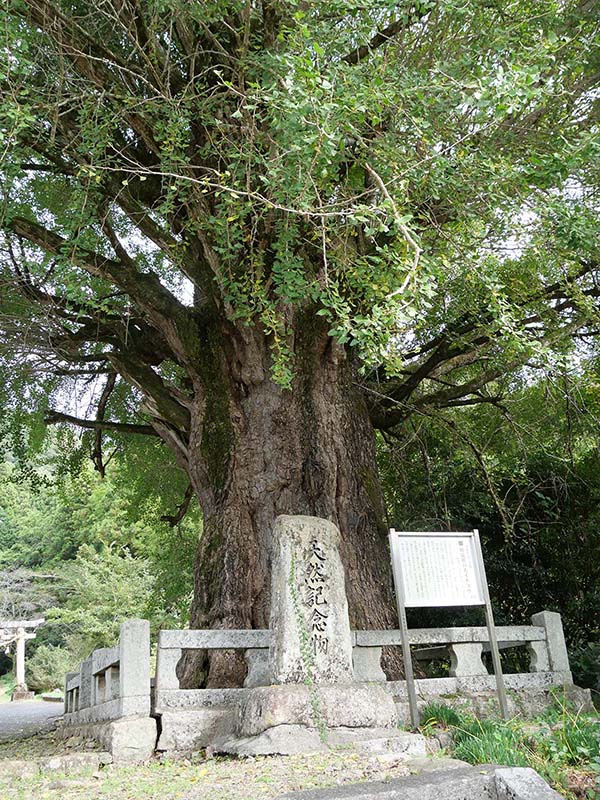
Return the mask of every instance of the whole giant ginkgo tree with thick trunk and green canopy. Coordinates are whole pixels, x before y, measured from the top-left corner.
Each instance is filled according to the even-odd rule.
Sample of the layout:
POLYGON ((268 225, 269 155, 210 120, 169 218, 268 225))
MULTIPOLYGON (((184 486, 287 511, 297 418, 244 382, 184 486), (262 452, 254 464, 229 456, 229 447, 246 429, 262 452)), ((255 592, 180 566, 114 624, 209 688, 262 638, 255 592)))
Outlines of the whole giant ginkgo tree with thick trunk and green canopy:
POLYGON ((100 470, 106 436, 170 448, 192 625, 268 624, 287 513, 336 522, 352 624, 392 626, 375 431, 595 334, 598 4, 2 10, 5 413, 93 429, 100 470))

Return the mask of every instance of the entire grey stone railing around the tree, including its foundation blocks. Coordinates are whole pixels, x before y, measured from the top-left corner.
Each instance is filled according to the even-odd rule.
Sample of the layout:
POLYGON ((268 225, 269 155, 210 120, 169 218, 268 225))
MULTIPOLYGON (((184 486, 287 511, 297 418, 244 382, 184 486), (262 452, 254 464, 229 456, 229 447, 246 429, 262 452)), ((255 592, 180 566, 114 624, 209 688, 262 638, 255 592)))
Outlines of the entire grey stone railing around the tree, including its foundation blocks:
MULTIPOLYGON (((530 672, 505 675, 507 688, 535 690, 572 684, 560 615, 534 614, 532 625, 497 628, 502 648, 526 647, 530 672)), ((415 655, 428 660, 450 660, 447 678, 418 679, 421 702, 443 695, 493 694, 494 676, 488 674, 482 654, 487 629, 428 628, 409 632, 415 655)), ((211 745, 237 729, 240 709, 251 689, 272 684, 269 630, 163 630, 159 634, 154 707, 150 703, 149 623, 131 620, 121 626, 119 643, 96 650, 69 673, 65 685, 65 735, 77 726, 93 729, 107 749, 123 759, 142 759, 155 746, 151 715, 160 717, 158 749, 178 752, 211 745), (181 689, 177 665, 188 650, 243 651, 248 673, 242 688, 181 689), (117 738, 120 737, 120 738, 117 738)), ((407 716, 404 681, 387 681, 381 668, 382 650, 400 646, 400 632, 351 632, 354 680, 379 683, 391 693, 398 718, 407 716)))

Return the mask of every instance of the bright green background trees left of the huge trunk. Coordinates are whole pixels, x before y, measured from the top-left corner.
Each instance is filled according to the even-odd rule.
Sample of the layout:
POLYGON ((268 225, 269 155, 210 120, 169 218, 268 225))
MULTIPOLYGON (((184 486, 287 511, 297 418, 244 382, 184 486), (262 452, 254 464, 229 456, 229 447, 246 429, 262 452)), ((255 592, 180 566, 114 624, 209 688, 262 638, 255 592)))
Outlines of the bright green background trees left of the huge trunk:
POLYGON ((156 460, 135 482, 124 457, 104 479, 89 461, 61 475, 53 460, 30 464, 28 479, 15 463, 0 469, 0 619, 46 619, 28 645, 33 689, 62 685, 68 669, 114 643, 124 619, 150 619, 154 633, 185 625, 200 529, 197 506, 176 525, 162 519, 181 484, 169 462, 172 481, 159 489, 156 460))

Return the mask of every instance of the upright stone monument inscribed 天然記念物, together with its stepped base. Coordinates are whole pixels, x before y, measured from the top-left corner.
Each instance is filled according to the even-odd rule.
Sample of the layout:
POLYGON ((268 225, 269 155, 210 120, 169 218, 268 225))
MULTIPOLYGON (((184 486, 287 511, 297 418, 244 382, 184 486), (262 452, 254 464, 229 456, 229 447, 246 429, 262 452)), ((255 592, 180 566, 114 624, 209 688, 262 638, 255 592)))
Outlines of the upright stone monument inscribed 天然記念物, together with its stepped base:
MULTIPOLYGON (((270 672, 249 689, 235 738, 216 748, 239 755, 317 752, 385 738, 397 730, 393 697, 353 680, 340 532, 327 520, 280 516, 273 528, 270 672)), ((421 742, 418 743, 421 747, 421 742)))

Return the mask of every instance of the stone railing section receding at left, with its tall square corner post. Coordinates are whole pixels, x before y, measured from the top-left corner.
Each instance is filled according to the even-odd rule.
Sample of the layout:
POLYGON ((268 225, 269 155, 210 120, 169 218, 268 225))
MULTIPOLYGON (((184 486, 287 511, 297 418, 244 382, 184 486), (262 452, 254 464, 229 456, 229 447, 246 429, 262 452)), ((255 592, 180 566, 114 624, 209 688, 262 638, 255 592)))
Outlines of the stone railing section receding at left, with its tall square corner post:
POLYGON ((65 726, 150 716, 150 623, 128 620, 119 642, 86 658, 65 679, 65 726))

